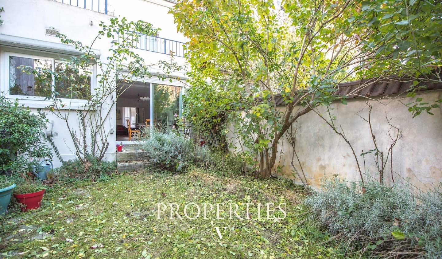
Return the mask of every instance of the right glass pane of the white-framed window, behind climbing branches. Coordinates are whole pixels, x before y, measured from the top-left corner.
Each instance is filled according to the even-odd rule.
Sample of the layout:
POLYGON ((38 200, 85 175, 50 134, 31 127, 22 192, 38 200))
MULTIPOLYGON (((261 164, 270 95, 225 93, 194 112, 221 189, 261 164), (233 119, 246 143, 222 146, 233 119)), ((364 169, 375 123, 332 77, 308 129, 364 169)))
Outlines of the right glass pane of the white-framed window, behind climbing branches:
POLYGON ((76 68, 67 63, 55 62, 55 96, 68 99, 88 99, 91 93, 92 65, 76 68))

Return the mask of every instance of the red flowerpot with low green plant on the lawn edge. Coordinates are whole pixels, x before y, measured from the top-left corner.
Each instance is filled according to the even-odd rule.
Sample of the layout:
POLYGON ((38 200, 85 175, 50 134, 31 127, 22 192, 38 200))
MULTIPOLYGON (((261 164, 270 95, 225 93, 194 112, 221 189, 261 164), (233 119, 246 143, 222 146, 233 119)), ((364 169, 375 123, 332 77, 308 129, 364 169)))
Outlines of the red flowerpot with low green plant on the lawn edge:
POLYGON ((20 208, 23 212, 30 209, 38 209, 40 208, 45 189, 46 187, 43 186, 40 181, 24 179, 17 183, 17 188, 14 190, 14 197, 21 203, 20 208))

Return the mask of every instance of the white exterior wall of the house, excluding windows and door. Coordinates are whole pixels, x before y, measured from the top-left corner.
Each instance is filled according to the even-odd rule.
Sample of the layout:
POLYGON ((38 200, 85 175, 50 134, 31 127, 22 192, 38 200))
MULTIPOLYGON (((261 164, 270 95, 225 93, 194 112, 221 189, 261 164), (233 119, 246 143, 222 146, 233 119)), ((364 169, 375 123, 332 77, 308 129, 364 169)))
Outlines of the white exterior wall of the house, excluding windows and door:
MULTIPOLYGON (((95 36, 100 30, 100 21, 109 21, 112 17, 125 16, 130 21, 144 20, 152 23, 153 27, 160 28, 159 37, 167 38, 179 42, 186 42, 183 35, 176 32, 176 25, 173 22, 173 15, 168 14, 173 3, 167 0, 108 0, 109 14, 91 11, 85 8, 76 7, 76 0, 72 0, 73 5, 69 5, 69 0, 61 3, 61 0, 1 0, 0 7, 4 8, 1 19, 4 20, 0 26, 0 92, 8 94, 8 53, 24 53, 41 56, 52 56, 54 58, 64 55, 75 55, 78 52, 72 47, 60 42, 54 36, 46 35, 46 28, 54 27, 69 39, 74 39, 90 46, 95 36), (113 15, 111 15, 113 13, 113 15), (91 25, 93 23, 93 25, 91 25)), ((79 1, 80 4, 84 2, 79 1)), ((98 0, 94 0, 97 4, 98 0)), ((88 0, 90 3, 90 0, 88 0)), ((105 0, 100 0, 104 5, 105 0)), ((100 7, 103 10, 103 6, 100 7)), ((109 56, 110 41, 107 37, 94 43, 93 49, 99 54, 101 60, 106 60, 109 56)), ((156 53, 147 50, 136 50, 144 59, 146 64, 157 63, 159 60, 169 60, 167 54, 156 53)), ((175 62, 183 64, 184 58, 175 57, 175 62)), ((98 69, 98 68, 97 68, 98 69)), ((100 73, 98 71, 98 73, 100 73)), ((162 73, 160 69, 152 68, 152 73, 162 73)), ((184 78, 183 73, 175 73, 172 76, 184 78)), ((158 78, 152 77, 146 81, 160 83, 158 78)), ((172 83, 161 81, 170 85, 184 86, 182 82, 173 80, 172 83)), ((93 84, 92 84, 93 85, 93 84)), ((93 88, 93 87, 92 87, 93 88)), ((11 97, 11 96, 10 96, 11 97)), ((11 97, 14 98, 15 97, 11 97)), ((34 98, 20 96, 20 103, 29 106, 34 112, 37 108, 44 108, 50 101, 44 98, 34 98)), ((67 104, 65 102, 65 104, 67 104)), ((76 108, 80 104, 72 101, 70 106, 72 116, 69 116, 70 124, 76 129, 80 127, 77 119, 76 108)), ((69 108, 69 106, 67 106, 69 108)), ((111 108, 110 116, 104 125, 106 131, 113 131, 108 139, 109 149, 105 158, 114 160, 116 157, 116 105, 111 108)), ((53 120, 53 141, 57 146, 64 160, 74 159, 73 143, 69 136, 66 124, 54 114, 49 112, 47 118, 53 120)), ((53 157, 54 166, 60 166, 61 162, 57 157, 53 157)))

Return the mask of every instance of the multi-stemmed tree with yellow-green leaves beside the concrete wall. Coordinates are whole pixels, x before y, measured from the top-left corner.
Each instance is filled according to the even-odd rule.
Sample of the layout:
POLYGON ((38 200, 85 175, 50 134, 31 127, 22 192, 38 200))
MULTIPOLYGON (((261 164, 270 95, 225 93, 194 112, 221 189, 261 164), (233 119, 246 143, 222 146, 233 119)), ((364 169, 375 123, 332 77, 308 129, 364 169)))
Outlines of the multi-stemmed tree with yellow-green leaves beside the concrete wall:
POLYGON ((278 171, 279 143, 297 118, 346 103, 339 82, 440 81, 440 2, 289 0, 284 9, 271 0, 183 0, 171 11, 190 39, 187 112, 200 121, 229 113, 261 177, 278 171), (208 94, 217 101, 206 105, 208 94))

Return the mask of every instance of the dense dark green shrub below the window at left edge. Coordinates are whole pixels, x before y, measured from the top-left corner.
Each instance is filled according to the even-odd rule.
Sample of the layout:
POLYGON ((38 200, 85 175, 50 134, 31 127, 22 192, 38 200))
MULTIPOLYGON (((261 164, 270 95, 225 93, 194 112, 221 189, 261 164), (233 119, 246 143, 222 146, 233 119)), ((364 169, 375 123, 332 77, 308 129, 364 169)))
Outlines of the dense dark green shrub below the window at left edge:
POLYGON ((0 96, 0 172, 23 173, 38 165, 41 158, 51 158, 44 143, 45 120, 29 108, 0 96))

